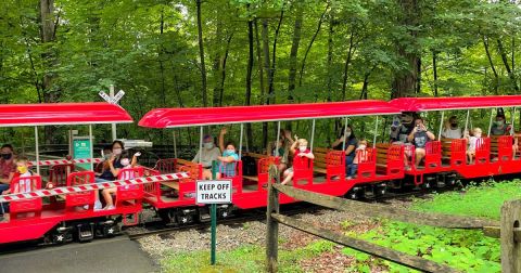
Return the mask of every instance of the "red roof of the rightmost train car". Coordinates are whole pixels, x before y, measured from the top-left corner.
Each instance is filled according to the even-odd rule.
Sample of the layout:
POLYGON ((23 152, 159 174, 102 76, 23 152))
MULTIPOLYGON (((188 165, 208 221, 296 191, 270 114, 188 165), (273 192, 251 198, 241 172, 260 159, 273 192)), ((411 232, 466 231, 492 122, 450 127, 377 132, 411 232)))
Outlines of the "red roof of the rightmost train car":
POLYGON ((521 95, 399 98, 390 104, 403 112, 513 107, 521 106, 521 95))

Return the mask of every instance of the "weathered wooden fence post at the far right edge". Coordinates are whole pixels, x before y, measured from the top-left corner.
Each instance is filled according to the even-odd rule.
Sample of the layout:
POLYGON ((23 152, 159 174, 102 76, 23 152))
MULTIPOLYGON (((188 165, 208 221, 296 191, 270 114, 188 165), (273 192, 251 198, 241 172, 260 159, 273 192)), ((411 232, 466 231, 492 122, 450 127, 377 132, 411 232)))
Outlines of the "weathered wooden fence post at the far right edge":
POLYGON ((521 272, 521 199, 501 207, 501 272, 521 272))

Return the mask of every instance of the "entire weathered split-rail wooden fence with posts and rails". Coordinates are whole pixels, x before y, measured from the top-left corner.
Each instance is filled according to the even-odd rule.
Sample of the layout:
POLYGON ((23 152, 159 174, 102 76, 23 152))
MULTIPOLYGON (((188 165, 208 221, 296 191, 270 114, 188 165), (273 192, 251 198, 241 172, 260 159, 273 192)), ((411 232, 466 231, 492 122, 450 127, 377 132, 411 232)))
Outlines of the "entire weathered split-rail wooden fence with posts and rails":
POLYGON ((521 273, 521 200, 506 202, 501 207, 501 220, 499 222, 469 217, 410 211, 391 208, 384 205, 367 204, 313 193, 280 184, 280 176, 277 173, 276 168, 270 168, 269 173, 269 181, 275 179, 276 183, 269 183, 268 186, 266 240, 266 263, 268 272, 277 272, 279 223, 411 269, 424 272, 457 272, 456 269, 446 264, 441 264, 418 256, 407 255, 364 239, 345 236, 344 234, 280 214, 279 194, 282 193, 302 202, 331 209, 357 212, 369 217, 448 229, 481 229, 487 236, 500 237, 503 272, 521 273))

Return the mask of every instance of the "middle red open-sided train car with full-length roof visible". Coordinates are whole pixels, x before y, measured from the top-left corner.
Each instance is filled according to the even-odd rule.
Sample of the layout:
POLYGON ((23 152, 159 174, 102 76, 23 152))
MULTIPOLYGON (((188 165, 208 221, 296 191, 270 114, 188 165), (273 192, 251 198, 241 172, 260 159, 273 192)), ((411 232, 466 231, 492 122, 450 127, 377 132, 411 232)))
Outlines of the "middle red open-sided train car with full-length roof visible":
MULTIPOLYGON (((358 166, 358 176, 355 179, 348 179, 345 176, 344 151, 314 146, 316 119, 343 118, 347 125, 350 117, 397 115, 399 113, 399 108, 387 102, 373 100, 212 108, 158 108, 144 115, 139 121, 139 126, 160 129, 199 127, 201 148, 204 127, 240 125, 239 160, 234 164, 236 176, 226 179, 232 180, 234 208, 251 209, 266 206, 268 167, 277 162, 279 158, 263 154, 242 153, 244 123, 277 122, 277 131, 280 132, 281 120, 310 120, 313 122, 310 150, 315 154, 315 159, 308 160, 300 157, 293 159, 292 185, 322 194, 343 196, 356 186, 379 183, 381 188, 384 188, 382 182, 402 179, 404 177, 403 148, 399 145, 377 147, 374 136, 373 146, 366 151, 367 160, 358 166), (241 160, 243 155, 256 158, 256 176, 243 176, 241 160)), ((378 131, 378 118, 376 126, 374 132, 378 131)), ((145 203, 157 208, 160 216, 167 222, 186 223, 207 218, 206 208, 196 206, 194 199, 195 181, 202 179, 200 162, 169 158, 160 160, 156 169, 163 173, 188 171, 191 178, 147 185, 145 203), (168 195, 170 191, 175 191, 177 194, 168 195)), ((381 193, 383 194, 383 192, 381 193)), ((288 204, 295 200, 288 196, 281 196, 280 202, 288 204)), ((224 205, 218 211, 221 217, 226 217, 231 209, 224 205)))

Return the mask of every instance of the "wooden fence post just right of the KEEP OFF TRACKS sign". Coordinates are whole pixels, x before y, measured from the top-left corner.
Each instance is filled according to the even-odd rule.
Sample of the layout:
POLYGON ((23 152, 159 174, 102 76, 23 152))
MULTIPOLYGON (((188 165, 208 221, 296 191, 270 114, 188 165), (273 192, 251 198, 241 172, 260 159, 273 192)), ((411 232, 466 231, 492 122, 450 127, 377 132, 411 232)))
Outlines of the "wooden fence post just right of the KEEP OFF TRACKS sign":
POLYGON ((277 259, 279 248, 279 222, 271 217, 271 213, 279 213, 279 192, 271 182, 280 183, 280 176, 277 167, 271 165, 268 171, 268 206, 266 207, 266 262, 267 271, 277 272, 277 259))

